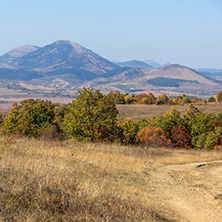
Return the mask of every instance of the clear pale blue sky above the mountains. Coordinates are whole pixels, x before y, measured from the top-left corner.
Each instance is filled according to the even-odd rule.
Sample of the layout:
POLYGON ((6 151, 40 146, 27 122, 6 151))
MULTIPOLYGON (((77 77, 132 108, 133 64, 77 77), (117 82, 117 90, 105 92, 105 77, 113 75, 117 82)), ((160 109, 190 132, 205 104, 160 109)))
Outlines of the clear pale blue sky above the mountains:
POLYGON ((222 68, 222 0, 0 0, 0 54, 59 39, 112 61, 222 68))

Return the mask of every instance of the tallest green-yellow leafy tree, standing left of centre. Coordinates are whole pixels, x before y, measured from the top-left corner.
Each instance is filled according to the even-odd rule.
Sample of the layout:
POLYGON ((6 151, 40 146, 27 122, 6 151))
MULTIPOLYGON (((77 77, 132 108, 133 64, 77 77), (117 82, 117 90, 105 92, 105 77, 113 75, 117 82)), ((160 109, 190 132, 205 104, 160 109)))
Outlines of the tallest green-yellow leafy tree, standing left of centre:
POLYGON ((118 135, 115 102, 99 90, 83 88, 69 104, 64 130, 78 141, 113 141, 118 135))

